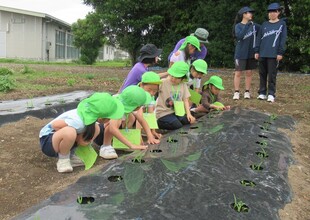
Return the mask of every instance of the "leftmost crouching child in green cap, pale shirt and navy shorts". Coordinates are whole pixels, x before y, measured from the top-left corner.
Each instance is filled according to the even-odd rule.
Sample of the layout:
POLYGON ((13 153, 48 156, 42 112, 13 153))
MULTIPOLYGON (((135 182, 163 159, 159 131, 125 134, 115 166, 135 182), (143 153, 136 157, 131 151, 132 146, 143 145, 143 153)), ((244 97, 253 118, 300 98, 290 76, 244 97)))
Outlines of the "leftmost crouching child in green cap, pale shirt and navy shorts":
POLYGON ((72 159, 71 155, 70 161, 72 148, 87 146, 103 133, 103 127, 96 123, 98 119, 106 122, 108 119, 119 119, 123 114, 124 107, 119 100, 108 93, 94 93, 82 100, 77 109, 59 115, 41 129, 42 152, 49 157, 58 157, 58 172, 72 172, 72 167, 81 165, 76 156, 72 159))

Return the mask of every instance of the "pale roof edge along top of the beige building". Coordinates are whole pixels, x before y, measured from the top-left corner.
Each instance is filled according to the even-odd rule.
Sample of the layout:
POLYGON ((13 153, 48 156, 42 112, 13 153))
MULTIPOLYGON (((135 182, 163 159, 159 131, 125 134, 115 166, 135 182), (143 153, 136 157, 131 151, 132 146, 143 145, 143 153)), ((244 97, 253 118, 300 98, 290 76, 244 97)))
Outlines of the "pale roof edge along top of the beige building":
POLYGON ((40 17, 40 18, 45 18, 49 21, 54 21, 56 23, 60 23, 64 26, 71 27, 71 25, 63 20, 60 20, 56 17, 53 17, 49 14, 41 13, 41 12, 35 12, 35 11, 28 11, 28 10, 23 10, 23 9, 17 9, 17 8, 10 8, 10 7, 5 7, 0 5, 0 11, 6 11, 6 12, 12 12, 12 13, 17 13, 17 14, 24 14, 24 15, 30 15, 34 17, 40 17))

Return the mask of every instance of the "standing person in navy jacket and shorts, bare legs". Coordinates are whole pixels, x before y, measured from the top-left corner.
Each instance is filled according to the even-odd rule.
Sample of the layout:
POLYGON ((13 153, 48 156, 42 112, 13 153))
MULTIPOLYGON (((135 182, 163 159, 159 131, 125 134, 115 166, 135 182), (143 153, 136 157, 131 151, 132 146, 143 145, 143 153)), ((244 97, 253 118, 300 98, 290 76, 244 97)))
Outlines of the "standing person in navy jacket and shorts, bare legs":
POLYGON ((235 48, 235 77, 234 77, 234 100, 240 98, 240 78, 245 72, 245 92, 244 98, 250 99, 250 89, 253 69, 257 67, 254 59, 254 48, 259 26, 253 23, 254 10, 250 7, 243 7, 238 11, 235 19, 233 35, 237 41, 235 48), (241 19, 241 22, 237 23, 241 19))

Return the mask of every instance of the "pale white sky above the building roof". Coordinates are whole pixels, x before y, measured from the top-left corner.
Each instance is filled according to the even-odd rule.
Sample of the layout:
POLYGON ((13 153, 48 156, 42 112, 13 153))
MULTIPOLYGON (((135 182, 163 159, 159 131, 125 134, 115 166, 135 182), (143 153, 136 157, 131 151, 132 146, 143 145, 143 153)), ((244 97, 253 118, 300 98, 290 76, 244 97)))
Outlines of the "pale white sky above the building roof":
POLYGON ((0 0, 0 6, 49 14, 69 24, 84 19, 92 11, 83 0, 0 0))

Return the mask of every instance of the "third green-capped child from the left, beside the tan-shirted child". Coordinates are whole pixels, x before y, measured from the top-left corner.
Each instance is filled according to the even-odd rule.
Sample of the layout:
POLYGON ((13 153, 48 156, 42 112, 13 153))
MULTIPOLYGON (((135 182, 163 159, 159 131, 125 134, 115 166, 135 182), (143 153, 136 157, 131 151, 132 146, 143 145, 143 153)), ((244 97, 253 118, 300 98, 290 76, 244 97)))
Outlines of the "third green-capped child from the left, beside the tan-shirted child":
MULTIPOLYGON (((143 116, 143 112, 147 113, 154 113, 155 110, 155 100, 154 96, 158 93, 159 85, 162 84, 162 81, 160 80, 160 77, 155 72, 145 72, 142 75, 141 82, 139 83, 139 86, 144 89, 144 91, 150 93, 152 96, 152 102, 148 105, 143 106, 139 109, 138 114, 143 116)), ((139 124, 137 124, 137 128, 139 127, 139 124)), ((160 139, 161 134, 157 133, 155 129, 151 129, 152 134, 154 137, 160 139)))

